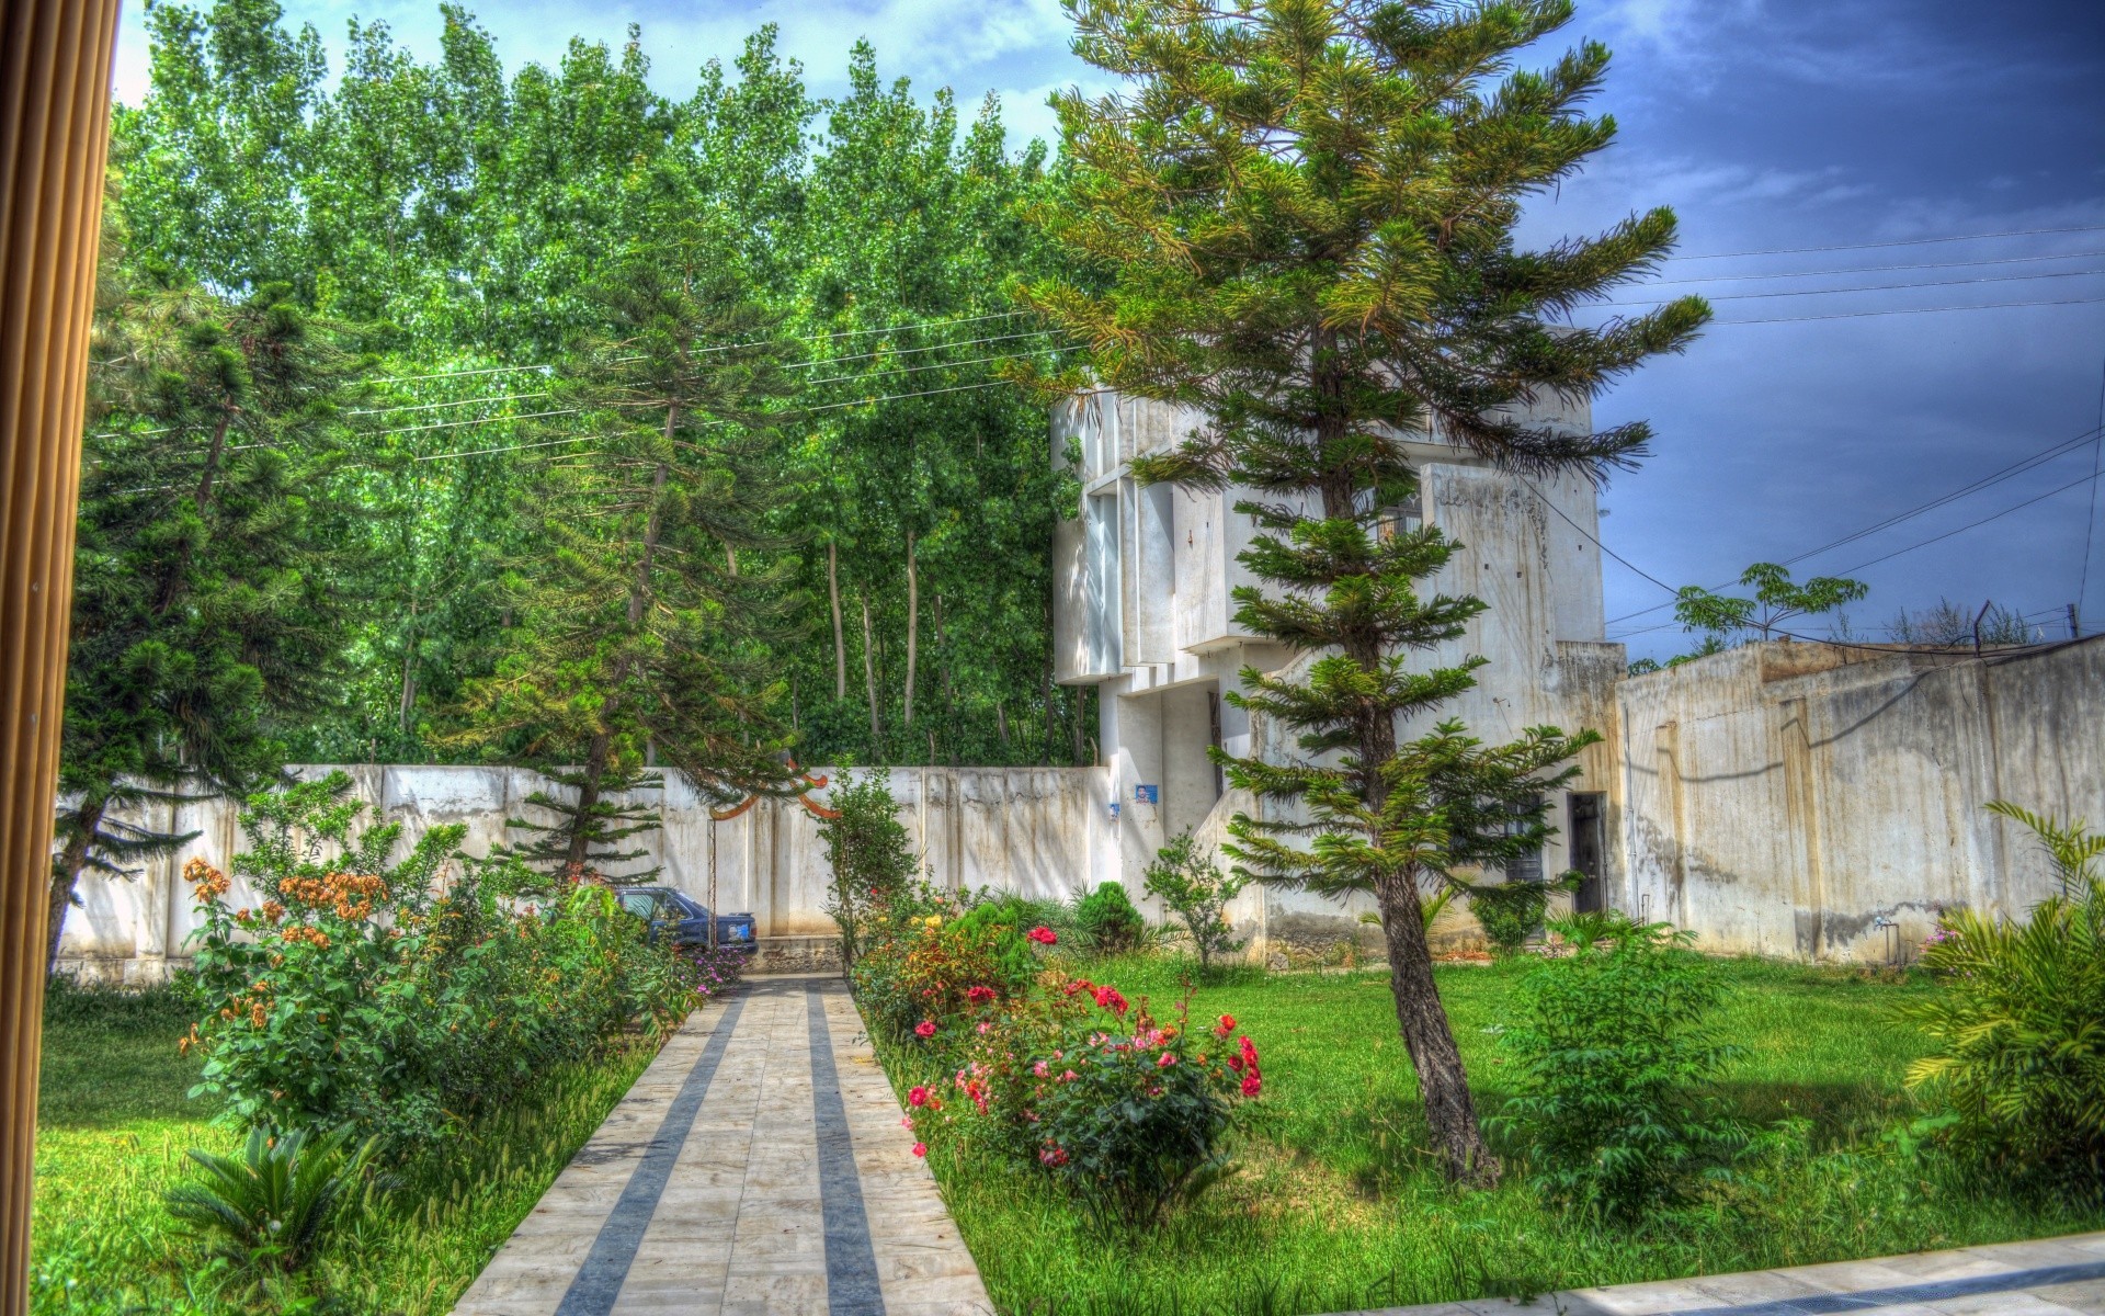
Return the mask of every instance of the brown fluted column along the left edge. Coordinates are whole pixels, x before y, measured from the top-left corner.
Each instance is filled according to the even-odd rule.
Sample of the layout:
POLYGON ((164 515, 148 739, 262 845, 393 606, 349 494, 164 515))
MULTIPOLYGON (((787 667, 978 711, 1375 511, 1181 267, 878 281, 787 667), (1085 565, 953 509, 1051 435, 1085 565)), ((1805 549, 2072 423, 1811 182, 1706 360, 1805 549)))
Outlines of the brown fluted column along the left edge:
POLYGON ((27 1308, 80 421, 118 0, 0 0, 0 1316, 27 1308))

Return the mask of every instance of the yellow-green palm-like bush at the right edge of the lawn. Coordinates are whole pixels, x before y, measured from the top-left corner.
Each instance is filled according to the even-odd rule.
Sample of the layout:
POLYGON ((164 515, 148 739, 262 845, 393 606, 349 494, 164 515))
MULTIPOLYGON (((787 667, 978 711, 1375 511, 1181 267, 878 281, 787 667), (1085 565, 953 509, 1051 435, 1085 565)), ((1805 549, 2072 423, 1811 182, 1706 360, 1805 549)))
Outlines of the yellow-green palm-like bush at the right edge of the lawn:
POLYGON ((2000 1173, 2105 1198, 2105 882, 2084 828, 2004 811, 2048 842, 2061 886, 2023 924, 1947 912, 1922 952, 1934 998, 1909 1009, 1934 1051, 1907 1082, 1958 1116, 1949 1137, 2000 1173), (2054 844, 2054 842, 2063 844, 2054 844))

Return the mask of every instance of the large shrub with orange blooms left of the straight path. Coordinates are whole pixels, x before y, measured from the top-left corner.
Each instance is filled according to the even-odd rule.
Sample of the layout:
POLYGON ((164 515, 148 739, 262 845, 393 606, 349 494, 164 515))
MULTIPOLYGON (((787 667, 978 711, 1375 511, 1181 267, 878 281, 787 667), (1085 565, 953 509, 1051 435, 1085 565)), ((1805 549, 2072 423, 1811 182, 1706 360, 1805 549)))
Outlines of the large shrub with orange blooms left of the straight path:
POLYGON ((697 969, 604 886, 566 884, 520 905, 505 865, 453 880, 461 828, 434 828, 396 865, 400 825, 360 830, 341 773, 248 800, 234 880, 185 868, 202 1049, 196 1091, 272 1133, 358 1124, 434 1139, 488 1099, 608 1038, 663 1028, 697 1000, 697 969))

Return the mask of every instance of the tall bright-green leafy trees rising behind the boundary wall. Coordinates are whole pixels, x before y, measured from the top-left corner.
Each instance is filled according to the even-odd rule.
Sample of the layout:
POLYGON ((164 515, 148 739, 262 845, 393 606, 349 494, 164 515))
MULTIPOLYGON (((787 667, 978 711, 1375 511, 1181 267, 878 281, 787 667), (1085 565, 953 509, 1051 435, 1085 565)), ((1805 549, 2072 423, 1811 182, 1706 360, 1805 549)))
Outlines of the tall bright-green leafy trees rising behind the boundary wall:
MULTIPOLYGON (((358 417, 356 503, 370 514, 354 539, 381 552, 337 598, 373 606, 316 632, 347 674, 339 699, 288 729, 295 760, 516 754, 581 769, 594 695, 615 695, 629 707, 604 718, 608 773, 545 792, 564 836, 543 868, 594 832, 585 849, 619 872, 613 855, 634 849, 648 811, 600 813, 577 796, 623 796, 653 760, 678 764, 669 741, 695 726, 640 722, 648 695, 682 701, 688 686, 667 684, 657 659, 650 689, 608 680, 644 646, 634 627, 526 596, 547 602, 554 585, 604 575, 617 541, 634 547, 648 499, 604 488, 621 516, 600 524, 577 495, 589 472, 648 486, 657 463, 632 463, 661 430, 659 446, 682 455, 671 482, 703 476, 684 495, 747 501, 754 537, 701 545, 701 566, 728 577, 733 543, 737 577, 781 604, 766 634, 726 634, 686 659, 747 712, 705 718, 739 729, 735 745, 718 737, 728 762, 711 754, 711 785, 783 731, 806 762, 1088 762, 1092 695, 1057 691, 1046 661, 1065 486, 1042 406, 996 373, 1050 360, 1052 339, 1017 318, 1006 282, 1048 263, 1023 208, 1055 181, 1042 145, 1006 139, 991 97, 973 109, 884 80, 857 46, 848 93, 821 103, 773 27, 735 61, 705 63, 688 99, 653 91, 640 29, 507 74, 516 61, 459 6, 444 8, 436 59, 354 21, 341 67, 276 4, 158 4, 147 32, 152 91, 112 126, 124 187, 109 213, 137 234, 128 265, 236 299, 286 284, 318 316, 373 322, 385 352, 377 396, 343 413, 358 417), (602 368, 610 343, 638 335, 608 282, 680 282, 697 253, 709 265, 697 288, 735 284, 756 312, 707 320, 697 385, 733 381, 716 368, 728 356, 796 347, 800 368, 775 381, 789 392, 751 398, 796 415, 794 438, 701 427, 693 413, 663 432, 663 379, 636 392, 634 377, 663 364, 657 331, 642 335, 650 362, 602 368), (520 371, 537 364, 552 377, 520 371), (747 444, 758 451, 741 457, 747 444), (583 535, 577 562, 547 560, 549 520, 583 535), (573 630, 594 638, 589 653, 573 630), (577 667, 556 651, 575 651, 577 667), (516 684, 499 697, 493 682, 516 684), (461 737, 469 726, 488 739, 461 737)), ((678 552, 697 550, 667 541, 653 573, 678 552)), ((592 583, 600 602, 617 594, 592 583)), ((741 613, 751 621, 743 609, 726 621, 741 613)), ((711 707, 703 689, 688 722, 711 707)), ((543 840, 526 830, 520 846, 541 859, 543 840)))

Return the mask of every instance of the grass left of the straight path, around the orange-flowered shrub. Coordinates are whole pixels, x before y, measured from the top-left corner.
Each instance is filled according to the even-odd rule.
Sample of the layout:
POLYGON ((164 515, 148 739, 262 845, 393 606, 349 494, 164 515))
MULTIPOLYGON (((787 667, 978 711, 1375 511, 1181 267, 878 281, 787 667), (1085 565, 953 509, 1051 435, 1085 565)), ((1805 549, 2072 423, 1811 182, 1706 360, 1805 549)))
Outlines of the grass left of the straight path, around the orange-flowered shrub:
MULTIPOLYGON (((65 1316, 295 1310, 240 1293, 225 1263, 175 1232, 162 1194, 185 1150, 236 1150, 213 1105, 185 1097, 198 1061, 175 1040, 183 1002, 158 992, 59 990, 44 1017, 36 1135, 32 1312, 65 1316)), ((650 1063, 638 1040, 549 1076, 442 1156, 394 1167, 402 1185, 320 1259, 330 1312, 440 1316, 650 1063)))

